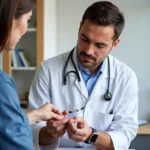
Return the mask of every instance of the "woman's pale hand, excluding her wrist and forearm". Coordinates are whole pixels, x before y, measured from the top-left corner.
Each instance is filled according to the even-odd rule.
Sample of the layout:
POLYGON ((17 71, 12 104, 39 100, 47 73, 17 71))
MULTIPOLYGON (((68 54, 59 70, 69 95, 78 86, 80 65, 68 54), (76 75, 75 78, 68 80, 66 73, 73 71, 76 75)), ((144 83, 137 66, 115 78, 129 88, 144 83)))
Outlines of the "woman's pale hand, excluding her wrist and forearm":
POLYGON ((57 119, 61 120, 64 118, 63 114, 51 103, 47 102, 39 109, 37 109, 39 113, 39 121, 47 121, 49 119, 57 119))

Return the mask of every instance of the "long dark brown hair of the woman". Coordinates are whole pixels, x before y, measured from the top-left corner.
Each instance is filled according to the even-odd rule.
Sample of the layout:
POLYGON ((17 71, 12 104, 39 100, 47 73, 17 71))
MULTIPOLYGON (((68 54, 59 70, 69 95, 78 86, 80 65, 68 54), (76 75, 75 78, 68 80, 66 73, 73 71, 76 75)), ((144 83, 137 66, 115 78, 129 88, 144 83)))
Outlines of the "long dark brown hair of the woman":
POLYGON ((35 0, 0 0, 0 51, 9 39, 13 19, 30 12, 35 0))

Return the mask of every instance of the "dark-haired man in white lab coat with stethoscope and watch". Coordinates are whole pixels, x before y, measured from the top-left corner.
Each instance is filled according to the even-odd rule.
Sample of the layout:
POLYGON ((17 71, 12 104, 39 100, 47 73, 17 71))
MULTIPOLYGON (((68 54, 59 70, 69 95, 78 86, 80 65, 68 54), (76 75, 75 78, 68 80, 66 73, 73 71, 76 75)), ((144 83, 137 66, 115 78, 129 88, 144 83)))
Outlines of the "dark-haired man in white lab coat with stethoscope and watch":
POLYGON ((41 63, 31 86, 29 109, 50 101, 65 117, 33 124, 39 149, 128 149, 138 126, 137 78, 109 54, 118 45, 124 24, 117 6, 96 2, 83 15, 77 46, 41 63))

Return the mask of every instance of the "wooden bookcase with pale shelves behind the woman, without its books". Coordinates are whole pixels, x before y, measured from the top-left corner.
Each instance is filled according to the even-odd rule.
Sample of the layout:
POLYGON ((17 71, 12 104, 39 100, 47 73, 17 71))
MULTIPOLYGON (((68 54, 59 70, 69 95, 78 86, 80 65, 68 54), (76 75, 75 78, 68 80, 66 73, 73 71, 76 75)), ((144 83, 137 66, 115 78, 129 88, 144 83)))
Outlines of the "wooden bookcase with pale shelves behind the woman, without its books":
MULTIPOLYGON (((27 54, 31 66, 12 67, 11 51, 3 51, 3 71, 12 76, 17 87, 18 96, 23 100, 26 100, 26 97, 28 97, 26 95, 28 95, 35 71, 39 67, 41 61, 43 61, 44 0, 36 0, 36 6, 33 10, 31 21, 34 21, 34 26, 29 26, 27 33, 16 45, 16 48, 23 49, 27 54)), ((21 101, 21 103, 25 104, 24 102, 21 101)))

